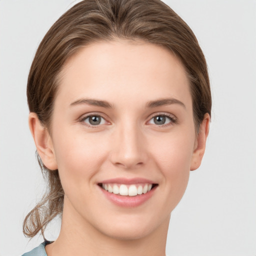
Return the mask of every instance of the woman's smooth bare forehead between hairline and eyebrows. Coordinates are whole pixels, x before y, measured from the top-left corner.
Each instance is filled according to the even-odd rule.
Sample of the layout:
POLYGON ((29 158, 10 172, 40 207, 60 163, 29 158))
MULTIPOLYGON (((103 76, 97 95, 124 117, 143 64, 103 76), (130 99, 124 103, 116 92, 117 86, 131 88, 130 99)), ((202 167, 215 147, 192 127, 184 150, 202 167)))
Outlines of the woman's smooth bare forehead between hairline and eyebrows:
MULTIPOLYGON (((132 103, 161 97, 189 101, 189 80, 170 50, 143 41, 103 41, 84 46, 65 63, 58 96, 132 103), (166 95, 168 94, 168 95, 166 95)), ((191 100, 190 100, 191 101, 191 100)), ((190 102, 189 102, 190 103, 190 102)))

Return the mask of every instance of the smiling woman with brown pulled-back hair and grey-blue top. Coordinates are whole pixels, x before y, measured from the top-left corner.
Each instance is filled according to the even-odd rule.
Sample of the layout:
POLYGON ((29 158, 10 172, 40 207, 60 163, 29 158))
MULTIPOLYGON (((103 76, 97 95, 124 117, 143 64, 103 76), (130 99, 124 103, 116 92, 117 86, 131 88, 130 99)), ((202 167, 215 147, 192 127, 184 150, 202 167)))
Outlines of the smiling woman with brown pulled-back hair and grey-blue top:
POLYGON ((84 0, 32 62, 29 127, 48 191, 28 213, 28 255, 165 255, 170 213, 200 165, 211 97, 185 22, 159 0, 84 0))

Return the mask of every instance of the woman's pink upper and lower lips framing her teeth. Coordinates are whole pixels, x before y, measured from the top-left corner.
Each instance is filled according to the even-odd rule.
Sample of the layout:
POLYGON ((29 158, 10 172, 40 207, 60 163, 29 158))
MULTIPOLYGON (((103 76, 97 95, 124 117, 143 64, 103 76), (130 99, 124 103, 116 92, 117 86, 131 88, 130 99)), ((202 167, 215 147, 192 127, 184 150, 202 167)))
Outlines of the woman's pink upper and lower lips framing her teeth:
MULTIPOLYGON (((112 179, 105 179, 100 183, 117 183, 117 184, 137 184, 137 183, 151 183, 151 184, 157 184, 156 182, 145 179, 145 178, 112 178, 112 179)), ((105 189, 103 189, 101 186, 98 185, 98 188, 103 193, 103 195, 112 203, 114 203, 117 206, 120 207, 137 207, 139 205, 142 205, 145 203, 155 192, 157 185, 154 186, 149 192, 146 192, 145 194, 139 194, 136 196, 128 196, 128 195, 120 195, 120 194, 114 194, 109 193, 105 189)))

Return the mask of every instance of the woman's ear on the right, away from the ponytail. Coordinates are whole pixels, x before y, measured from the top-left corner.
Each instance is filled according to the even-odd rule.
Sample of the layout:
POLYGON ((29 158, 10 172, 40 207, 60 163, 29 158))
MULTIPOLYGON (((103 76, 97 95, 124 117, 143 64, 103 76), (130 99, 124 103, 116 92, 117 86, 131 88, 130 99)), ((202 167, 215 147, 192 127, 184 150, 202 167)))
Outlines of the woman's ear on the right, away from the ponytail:
POLYGON ((199 127, 199 132, 195 138, 194 150, 191 158, 190 170, 197 169, 202 161, 205 150, 206 138, 209 133, 210 116, 208 113, 204 114, 203 120, 199 127))

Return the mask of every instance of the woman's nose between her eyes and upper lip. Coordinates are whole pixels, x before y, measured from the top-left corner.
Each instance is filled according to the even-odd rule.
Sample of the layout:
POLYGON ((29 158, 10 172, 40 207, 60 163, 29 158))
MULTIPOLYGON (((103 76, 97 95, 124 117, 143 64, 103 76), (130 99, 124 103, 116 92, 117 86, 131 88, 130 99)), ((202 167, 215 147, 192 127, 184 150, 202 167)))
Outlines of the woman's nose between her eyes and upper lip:
POLYGON ((146 139, 136 125, 121 125, 112 137, 112 164, 132 169, 145 164, 147 160, 146 139))

